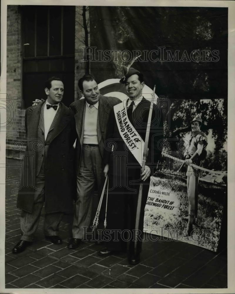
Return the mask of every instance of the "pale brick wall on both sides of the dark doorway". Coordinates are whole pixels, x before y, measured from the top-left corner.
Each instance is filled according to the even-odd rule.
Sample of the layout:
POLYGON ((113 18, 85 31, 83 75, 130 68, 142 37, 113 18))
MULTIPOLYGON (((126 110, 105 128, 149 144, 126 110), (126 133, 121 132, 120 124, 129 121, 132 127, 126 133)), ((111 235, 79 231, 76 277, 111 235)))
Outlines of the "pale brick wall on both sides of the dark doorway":
MULTIPOLYGON (((83 61, 83 6, 75 6, 75 100, 78 95, 78 80, 85 74, 83 61)), ((89 19, 89 11, 86 12, 89 19)), ((89 31, 89 25, 88 25, 89 31)), ((90 44, 90 37, 89 37, 90 44)), ((20 158, 20 150, 25 150, 24 102, 21 97, 21 12, 20 6, 9 5, 7 8, 7 134, 6 156, 20 158), (21 145, 23 144, 23 147, 21 145)))

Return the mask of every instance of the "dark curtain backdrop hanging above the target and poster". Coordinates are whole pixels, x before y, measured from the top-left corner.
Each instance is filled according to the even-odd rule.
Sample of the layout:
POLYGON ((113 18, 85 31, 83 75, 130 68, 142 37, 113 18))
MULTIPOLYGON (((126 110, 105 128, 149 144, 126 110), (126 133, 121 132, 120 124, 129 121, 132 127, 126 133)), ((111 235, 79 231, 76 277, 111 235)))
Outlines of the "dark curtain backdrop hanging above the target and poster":
MULTIPOLYGON (((164 46, 172 55, 179 50, 179 58, 186 50, 189 59, 194 50, 200 50, 201 54, 202 50, 218 50, 217 62, 166 62, 161 59, 138 61, 133 66, 144 74, 148 86, 153 88, 156 84, 158 96, 227 98, 227 8, 90 6, 90 42, 97 50, 160 52, 160 47, 164 46)), ((97 58, 98 54, 94 56, 97 58)), ((157 58, 154 54, 152 57, 157 58)), ((120 56, 117 61, 113 61, 113 57, 108 62, 90 60, 90 68, 98 82, 123 75, 120 56)))

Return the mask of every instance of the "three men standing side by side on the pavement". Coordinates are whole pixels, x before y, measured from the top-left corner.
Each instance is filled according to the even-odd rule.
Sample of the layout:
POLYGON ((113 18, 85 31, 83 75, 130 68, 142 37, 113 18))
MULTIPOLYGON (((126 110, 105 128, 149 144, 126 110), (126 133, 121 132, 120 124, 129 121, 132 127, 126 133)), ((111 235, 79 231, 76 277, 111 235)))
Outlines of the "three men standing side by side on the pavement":
MULTIPOLYGON (((150 102, 142 96, 143 75, 133 68, 125 69, 125 77, 120 82, 125 83, 127 96, 129 96, 124 107, 124 109, 128 108, 126 118, 133 132, 137 134, 137 141, 142 144, 146 136, 150 102)), ((153 173, 161 153, 157 147, 163 133, 160 106, 153 105, 147 161, 145 169, 141 172, 142 162, 137 160, 141 150, 137 150, 137 156, 135 155, 136 151, 132 153, 117 126, 115 106, 122 104, 121 101, 115 97, 102 96, 91 75, 84 75, 79 80, 79 88, 85 99, 73 102, 69 110, 63 103, 60 103, 63 97, 63 83, 57 78, 52 78, 50 86, 47 84, 45 89, 48 100, 41 102, 38 107, 30 107, 26 110, 28 139, 38 138, 43 142, 42 151, 36 152, 36 188, 45 189, 46 185, 46 189, 45 193, 44 191, 36 193, 33 198, 27 194, 19 194, 18 207, 24 210, 21 218, 23 236, 13 252, 23 251, 33 240, 33 233, 39 222, 43 201, 45 201, 46 208, 46 236, 53 243, 60 244, 62 242, 56 235, 63 216, 62 213, 69 213, 72 209, 73 177, 75 175, 77 175, 77 200, 72 227, 73 238, 70 240, 68 248, 77 248, 84 238, 86 228, 90 225, 94 188, 97 186, 100 195, 104 178, 109 173, 108 228, 111 230, 118 228, 122 232, 127 228, 128 214, 130 214, 130 232, 132 232, 133 238, 138 191, 140 183, 143 183, 137 250, 134 250, 133 238, 129 247, 130 262, 136 264, 140 260, 144 208, 150 175, 153 173), (46 112, 52 112, 52 110, 55 113, 48 114, 46 112), (77 137, 75 148, 77 171, 73 169, 74 151, 72 146, 75 137, 77 137), (115 146, 113 152, 107 147, 110 140, 115 146), (59 155, 61 158, 58 158, 59 155), (118 161, 114 160, 115 158, 118 158, 118 161), (120 166, 117 166, 117 162, 120 163, 120 166), (105 169, 104 163, 106 164, 105 169), (53 174, 53 171, 56 172, 53 174), (53 182, 55 183, 53 184, 53 182), (30 208, 28 208, 28 203, 31 203, 30 208), (50 225, 48 224, 49 217, 53 218, 50 225)), ((28 143, 28 149, 31 150, 30 148, 28 143)), ((121 238, 119 242, 113 242, 111 238, 106 243, 107 248, 100 251, 100 255, 110 255, 113 251, 126 250, 126 245, 126 242, 123 242, 121 238)))

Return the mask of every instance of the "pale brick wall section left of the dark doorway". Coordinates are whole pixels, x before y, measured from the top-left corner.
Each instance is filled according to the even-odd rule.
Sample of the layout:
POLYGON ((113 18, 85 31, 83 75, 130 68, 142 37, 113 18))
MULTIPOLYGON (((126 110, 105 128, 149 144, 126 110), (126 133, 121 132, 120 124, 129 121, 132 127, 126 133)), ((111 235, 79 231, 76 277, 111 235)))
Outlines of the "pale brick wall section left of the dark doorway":
POLYGON ((19 158, 24 139, 24 103, 21 100, 21 14, 18 5, 7 7, 6 42, 6 156, 19 158))

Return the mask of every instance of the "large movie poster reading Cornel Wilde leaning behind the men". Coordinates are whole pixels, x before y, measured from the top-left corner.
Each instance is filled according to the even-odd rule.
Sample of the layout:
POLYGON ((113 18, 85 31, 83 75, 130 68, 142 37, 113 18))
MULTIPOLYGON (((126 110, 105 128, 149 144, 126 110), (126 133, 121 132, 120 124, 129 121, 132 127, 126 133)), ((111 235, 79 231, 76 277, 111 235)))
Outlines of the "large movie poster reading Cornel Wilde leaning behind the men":
POLYGON ((227 197, 226 101, 177 100, 170 109, 169 125, 165 121, 162 158, 151 178, 144 228, 148 233, 216 251, 227 197), (196 136, 194 119, 202 122, 196 136), (202 160, 198 165, 191 164, 192 175, 185 155, 195 145, 195 138, 201 139, 204 147, 202 160), (198 175, 198 183, 194 173, 198 175), (189 205, 193 208, 190 235, 187 234, 189 205))

